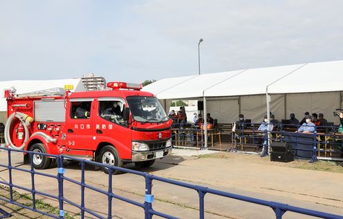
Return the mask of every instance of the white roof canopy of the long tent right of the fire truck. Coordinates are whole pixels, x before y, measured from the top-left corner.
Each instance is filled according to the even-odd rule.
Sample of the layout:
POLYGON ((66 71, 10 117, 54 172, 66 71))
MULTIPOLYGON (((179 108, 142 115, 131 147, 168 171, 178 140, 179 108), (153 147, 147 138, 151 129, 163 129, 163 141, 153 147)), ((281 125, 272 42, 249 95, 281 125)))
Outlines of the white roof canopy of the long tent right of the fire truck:
POLYGON ((143 88, 158 99, 342 91, 343 60, 161 79, 143 88), (325 77, 323 77, 325 76, 325 77))

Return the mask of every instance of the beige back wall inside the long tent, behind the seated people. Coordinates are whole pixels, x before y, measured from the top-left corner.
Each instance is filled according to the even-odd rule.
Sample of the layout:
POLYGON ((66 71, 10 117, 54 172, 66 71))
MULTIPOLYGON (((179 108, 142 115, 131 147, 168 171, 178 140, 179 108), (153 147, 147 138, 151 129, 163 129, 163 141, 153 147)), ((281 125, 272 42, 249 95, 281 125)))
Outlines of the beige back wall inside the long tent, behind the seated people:
MULTIPOLYGON (((160 101, 168 111, 172 99, 160 101)), ((290 113, 295 113, 295 117, 302 120, 304 112, 308 111, 324 113, 324 118, 328 122, 340 124, 340 120, 333 116, 333 111, 341 106, 343 106, 341 92, 272 94, 270 111, 280 122, 284 119, 288 120, 290 113)), ((211 116, 219 123, 236 122, 240 113, 245 119, 259 123, 262 122, 263 115, 267 113, 266 95, 207 97, 207 113, 211 113, 211 116)))

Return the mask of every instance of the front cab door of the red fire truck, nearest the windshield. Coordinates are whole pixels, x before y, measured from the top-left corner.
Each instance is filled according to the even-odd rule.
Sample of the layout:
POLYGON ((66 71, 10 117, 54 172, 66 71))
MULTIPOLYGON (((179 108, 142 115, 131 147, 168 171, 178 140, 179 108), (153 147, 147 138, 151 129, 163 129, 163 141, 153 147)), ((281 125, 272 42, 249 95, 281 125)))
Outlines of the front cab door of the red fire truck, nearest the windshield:
POLYGON ((120 97, 98 98, 98 119, 95 133, 98 141, 112 139, 122 159, 131 159, 131 130, 123 120, 124 99, 120 97))

